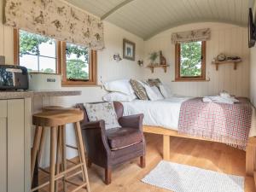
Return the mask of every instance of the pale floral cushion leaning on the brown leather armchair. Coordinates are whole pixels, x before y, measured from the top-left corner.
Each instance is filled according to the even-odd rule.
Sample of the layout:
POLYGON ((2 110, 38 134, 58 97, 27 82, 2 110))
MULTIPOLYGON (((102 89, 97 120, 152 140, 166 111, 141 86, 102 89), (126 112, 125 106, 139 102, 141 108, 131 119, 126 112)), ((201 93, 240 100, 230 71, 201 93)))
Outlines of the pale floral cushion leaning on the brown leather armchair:
POLYGON ((113 102, 85 103, 84 107, 90 121, 105 121, 106 130, 120 127, 113 102))

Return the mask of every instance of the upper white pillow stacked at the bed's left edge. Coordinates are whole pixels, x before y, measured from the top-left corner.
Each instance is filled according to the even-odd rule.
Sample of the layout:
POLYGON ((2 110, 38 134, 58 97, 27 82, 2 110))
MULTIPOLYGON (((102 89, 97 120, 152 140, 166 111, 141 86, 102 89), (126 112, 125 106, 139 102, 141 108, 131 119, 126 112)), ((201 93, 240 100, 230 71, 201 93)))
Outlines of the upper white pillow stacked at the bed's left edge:
POLYGON ((105 90, 111 92, 120 92, 129 96, 135 96, 134 90, 131 87, 130 79, 119 79, 114 81, 108 81, 103 84, 105 90))

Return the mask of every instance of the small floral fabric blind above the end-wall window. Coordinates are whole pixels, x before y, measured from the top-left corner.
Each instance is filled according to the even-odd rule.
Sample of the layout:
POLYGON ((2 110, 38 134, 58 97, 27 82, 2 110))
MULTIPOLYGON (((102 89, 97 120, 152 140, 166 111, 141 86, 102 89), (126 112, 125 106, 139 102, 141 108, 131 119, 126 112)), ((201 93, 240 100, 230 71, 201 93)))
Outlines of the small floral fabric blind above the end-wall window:
POLYGON ((199 29, 189 32, 172 33, 172 44, 188 43, 194 41, 207 41, 211 38, 211 30, 199 29))

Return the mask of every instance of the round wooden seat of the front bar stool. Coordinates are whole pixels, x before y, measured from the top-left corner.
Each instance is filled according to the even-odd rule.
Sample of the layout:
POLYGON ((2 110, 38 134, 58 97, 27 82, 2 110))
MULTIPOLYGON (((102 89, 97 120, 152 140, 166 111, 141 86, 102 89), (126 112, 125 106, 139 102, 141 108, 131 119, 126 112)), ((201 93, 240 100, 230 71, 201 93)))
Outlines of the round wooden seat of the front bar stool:
POLYGON ((84 113, 80 110, 45 111, 33 114, 32 124, 36 126, 59 126, 79 122, 84 119, 84 113))

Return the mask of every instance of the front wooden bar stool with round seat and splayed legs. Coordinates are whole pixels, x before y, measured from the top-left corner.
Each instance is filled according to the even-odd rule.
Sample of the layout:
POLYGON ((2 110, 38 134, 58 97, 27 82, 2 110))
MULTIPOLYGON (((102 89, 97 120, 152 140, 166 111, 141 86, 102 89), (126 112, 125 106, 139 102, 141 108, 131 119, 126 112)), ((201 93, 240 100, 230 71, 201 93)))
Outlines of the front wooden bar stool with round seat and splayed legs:
MULTIPOLYGON (((33 142, 33 148, 32 148, 32 175, 33 170, 35 166, 35 161, 37 158, 41 158, 41 149, 44 144, 44 135, 42 135, 43 130, 46 128, 50 129, 50 165, 49 165, 49 182, 43 183, 39 185, 37 188, 32 189, 32 191, 35 191, 37 189, 41 189, 47 184, 49 184, 49 192, 57 192, 57 188, 55 187, 58 179, 62 178, 63 184, 66 185, 66 183, 71 183, 73 185, 76 185, 77 188, 73 189, 73 191, 77 191, 79 189, 85 188, 88 192, 90 192, 90 184, 89 184, 89 178, 87 173, 87 167, 85 162, 85 155, 84 155, 84 145, 83 145, 83 139, 80 129, 79 121, 84 119, 84 113, 79 110, 49 110, 44 111, 43 113, 37 113, 34 114, 32 117, 32 123, 33 125, 36 125, 36 132, 33 142), (66 136, 64 127, 66 124, 73 123, 75 132, 76 132, 76 140, 78 143, 78 151, 79 151, 79 164, 72 166, 67 169, 65 167, 66 165, 66 136), (58 132, 58 135, 56 134, 58 132), (62 146, 62 153, 60 152, 60 146, 62 146), (60 166, 60 154, 61 154, 61 161, 62 161, 62 169, 60 172, 59 166, 60 166), (55 160, 56 156, 56 160, 55 160), (55 163, 57 166, 55 166, 55 163), (80 171, 74 172, 80 168, 80 171), (67 173, 73 172, 72 175, 67 175, 67 173), (76 175, 79 175, 82 173, 83 176, 83 183, 73 183, 69 180, 69 178, 74 177, 76 175)), ((38 159, 39 161, 40 159, 38 159)), ((64 187, 64 191, 66 191, 66 186, 64 187)))

